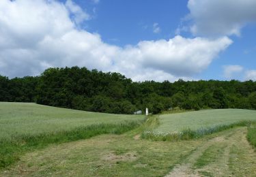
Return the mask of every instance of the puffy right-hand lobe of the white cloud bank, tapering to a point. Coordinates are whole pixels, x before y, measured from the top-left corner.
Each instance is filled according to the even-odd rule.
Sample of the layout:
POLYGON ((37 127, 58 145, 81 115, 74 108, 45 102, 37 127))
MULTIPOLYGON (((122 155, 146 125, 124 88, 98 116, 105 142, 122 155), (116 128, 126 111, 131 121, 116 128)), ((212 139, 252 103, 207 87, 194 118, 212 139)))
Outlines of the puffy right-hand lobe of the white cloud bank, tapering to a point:
POLYGON ((134 53, 130 59, 136 59, 136 63, 143 67, 165 71, 173 76, 193 76, 206 69, 218 53, 231 43, 227 37, 210 40, 176 36, 168 41, 139 42, 128 52, 134 53))

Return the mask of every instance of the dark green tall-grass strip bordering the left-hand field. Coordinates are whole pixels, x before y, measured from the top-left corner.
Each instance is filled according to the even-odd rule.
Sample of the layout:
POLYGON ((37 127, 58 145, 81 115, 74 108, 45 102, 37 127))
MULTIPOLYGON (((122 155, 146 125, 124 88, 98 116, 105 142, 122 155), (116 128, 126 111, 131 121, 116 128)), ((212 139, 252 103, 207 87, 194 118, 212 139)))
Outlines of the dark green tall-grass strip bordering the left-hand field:
POLYGON ((97 124, 77 127, 70 131, 43 133, 40 135, 19 135, 12 140, 0 141, 0 169, 18 161, 20 155, 31 150, 44 148, 48 144, 59 144, 75 140, 91 138, 104 133, 121 134, 139 127, 143 120, 126 121, 119 124, 97 124))

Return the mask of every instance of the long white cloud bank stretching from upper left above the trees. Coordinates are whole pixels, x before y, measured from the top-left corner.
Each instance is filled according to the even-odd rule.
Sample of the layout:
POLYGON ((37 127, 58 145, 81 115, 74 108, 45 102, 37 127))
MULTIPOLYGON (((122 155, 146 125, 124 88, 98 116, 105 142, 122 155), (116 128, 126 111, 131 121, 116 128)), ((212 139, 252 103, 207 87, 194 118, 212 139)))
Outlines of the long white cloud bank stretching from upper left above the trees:
POLYGON ((190 79, 232 43, 228 37, 177 35, 121 48, 77 28, 88 19, 83 13, 70 0, 1 0, 0 74, 31 76, 48 67, 78 65, 118 71, 133 80, 190 79))

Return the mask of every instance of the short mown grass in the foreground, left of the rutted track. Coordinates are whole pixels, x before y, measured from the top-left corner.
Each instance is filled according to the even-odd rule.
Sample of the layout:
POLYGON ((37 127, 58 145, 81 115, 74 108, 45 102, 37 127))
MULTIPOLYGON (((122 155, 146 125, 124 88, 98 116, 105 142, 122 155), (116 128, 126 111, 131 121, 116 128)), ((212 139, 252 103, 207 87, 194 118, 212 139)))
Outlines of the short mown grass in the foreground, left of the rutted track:
MULTIPOLYGON (((99 135, 27 153, 10 166, 13 170, 19 165, 10 176, 165 176, 203 143, 134 140, 130 132, 99 135)), ((8 168, 0 176, 9 175, 4 171, 8 168)))

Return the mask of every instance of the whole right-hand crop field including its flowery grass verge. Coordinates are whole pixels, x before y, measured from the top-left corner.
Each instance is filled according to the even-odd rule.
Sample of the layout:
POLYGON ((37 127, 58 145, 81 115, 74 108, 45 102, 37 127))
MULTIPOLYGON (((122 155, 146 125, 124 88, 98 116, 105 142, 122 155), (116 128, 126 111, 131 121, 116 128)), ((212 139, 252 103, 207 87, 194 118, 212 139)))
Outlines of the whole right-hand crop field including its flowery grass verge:
POLYGON ((153 129, 143 132, 151 140, 188 140, 217 131, 256 122, 255 110, 201 110, 177 114, 163 114, 156 119, 153 129))

